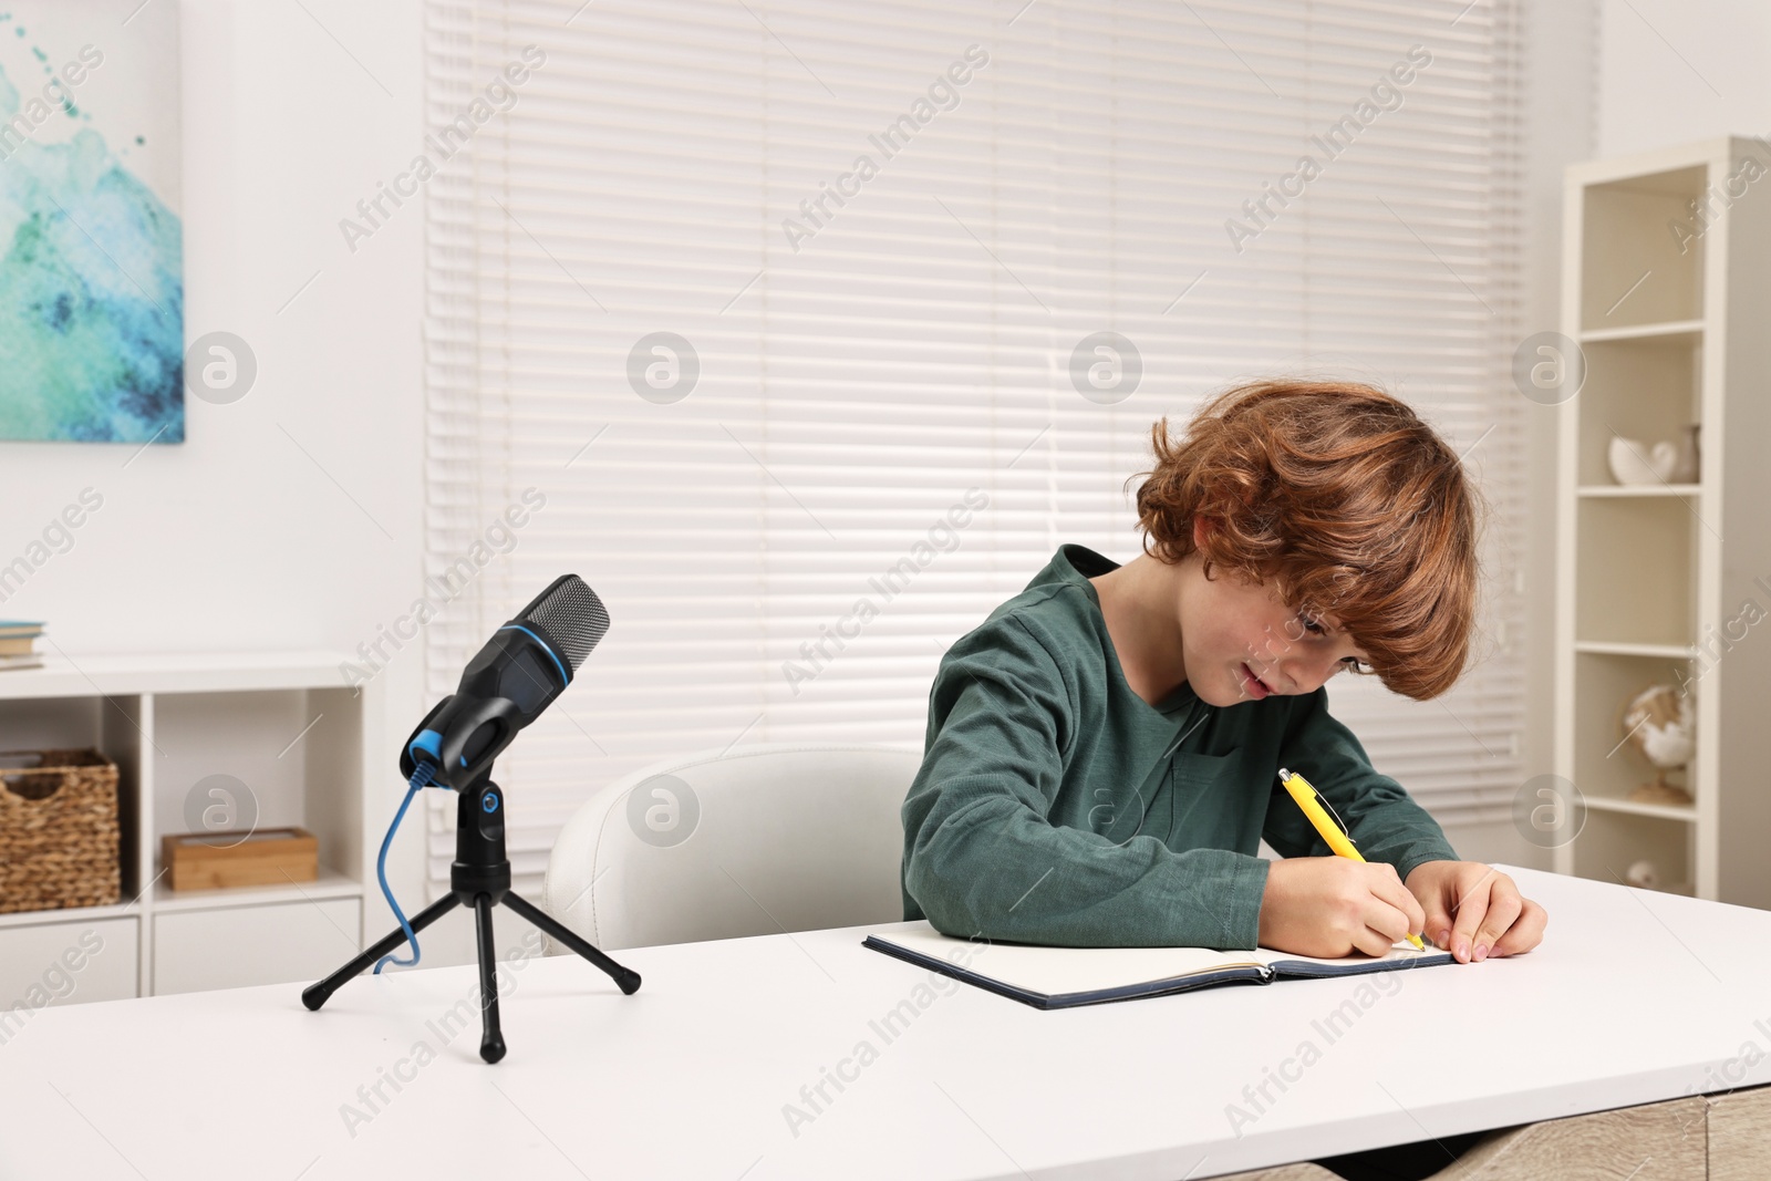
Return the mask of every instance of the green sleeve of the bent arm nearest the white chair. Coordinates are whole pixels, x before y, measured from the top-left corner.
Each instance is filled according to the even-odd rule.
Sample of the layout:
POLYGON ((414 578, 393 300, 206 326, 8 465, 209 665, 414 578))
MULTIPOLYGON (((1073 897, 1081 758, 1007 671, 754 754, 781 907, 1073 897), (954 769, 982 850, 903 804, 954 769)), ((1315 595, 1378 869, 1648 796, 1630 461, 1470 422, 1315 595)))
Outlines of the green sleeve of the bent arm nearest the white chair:
POLYGON ((901 813, 907 899, 963 938, 1254 947, 1264 859, 1176 853, 1148 834, 1116 845, 1047 820, 1075 708, 1032 632, 1015 616, 999 623, 956 645, 930 691, 923 767, 901 813))

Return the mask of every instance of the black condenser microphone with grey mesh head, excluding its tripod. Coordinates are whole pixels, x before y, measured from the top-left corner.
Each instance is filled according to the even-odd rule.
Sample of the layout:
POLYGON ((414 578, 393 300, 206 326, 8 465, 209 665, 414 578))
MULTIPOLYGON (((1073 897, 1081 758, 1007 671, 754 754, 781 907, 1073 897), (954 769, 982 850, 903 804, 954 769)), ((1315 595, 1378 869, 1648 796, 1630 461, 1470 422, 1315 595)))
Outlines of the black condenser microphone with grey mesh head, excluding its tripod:
POLYGON ((576 574, 563 574, 492 632, 462 669, 460 685, 418 722, 400 774, 430 767, 430 783, 457 791, 483 776, 517 731, 565 692, 609 630, 609 613, 576 574))

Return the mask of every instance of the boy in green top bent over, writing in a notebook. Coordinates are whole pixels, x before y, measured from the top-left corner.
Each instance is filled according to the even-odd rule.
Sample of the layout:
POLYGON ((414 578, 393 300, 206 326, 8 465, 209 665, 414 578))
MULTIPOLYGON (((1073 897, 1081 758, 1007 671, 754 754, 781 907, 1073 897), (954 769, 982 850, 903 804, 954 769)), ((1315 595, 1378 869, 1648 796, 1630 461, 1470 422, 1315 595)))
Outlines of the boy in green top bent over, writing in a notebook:
POLYGON ((1477 556, 1458 455, 1406 404, 1312 381, 1233 388, 1179 444, 1167 420, 1151 443, 1146 552, 1063 545, 942 657, 901 811, 905 919, 1086 947, 1535 947, 1543 907, 1458 861, 1323 689, 1355 668, 1426 701, 1463 671, 1477 556), (1328 855, 1280 767, 1367 862, 1328 855), (1263 836, 1284 861, 1256 855, 1263 836))

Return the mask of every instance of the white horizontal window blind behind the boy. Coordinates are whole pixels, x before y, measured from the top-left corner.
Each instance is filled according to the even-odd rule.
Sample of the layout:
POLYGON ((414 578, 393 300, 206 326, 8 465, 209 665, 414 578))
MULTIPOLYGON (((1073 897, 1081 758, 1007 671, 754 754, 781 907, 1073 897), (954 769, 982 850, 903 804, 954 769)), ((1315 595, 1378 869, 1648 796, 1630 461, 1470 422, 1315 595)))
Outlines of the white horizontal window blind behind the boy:
POLYGON ((946 645, 1063 542, 1139 552, 1151 421, 1272 374, 1374 381, 1468 450, 1481 662, 1330 701, 1442 823, 1505 814, 1511 2, 425 12, 429 692, 561 572, 611 614, 501 760, 519 885, 659 758, 919 749, 946 645))

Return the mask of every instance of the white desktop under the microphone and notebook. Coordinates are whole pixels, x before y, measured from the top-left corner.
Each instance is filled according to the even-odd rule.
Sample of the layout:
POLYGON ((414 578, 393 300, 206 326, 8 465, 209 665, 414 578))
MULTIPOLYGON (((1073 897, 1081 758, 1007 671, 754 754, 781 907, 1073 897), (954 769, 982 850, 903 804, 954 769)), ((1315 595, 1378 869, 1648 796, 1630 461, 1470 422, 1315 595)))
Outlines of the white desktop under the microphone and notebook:
POLYGON ((1550 910, 1527 956, 1054 1013, 870 928, 615 953, 632 997, 538 958, 498 1066, 473 967, 41 1009, 0 1177, 1178 1181, 1771 1082, 1771 912, 1505 869, 1550 910))

